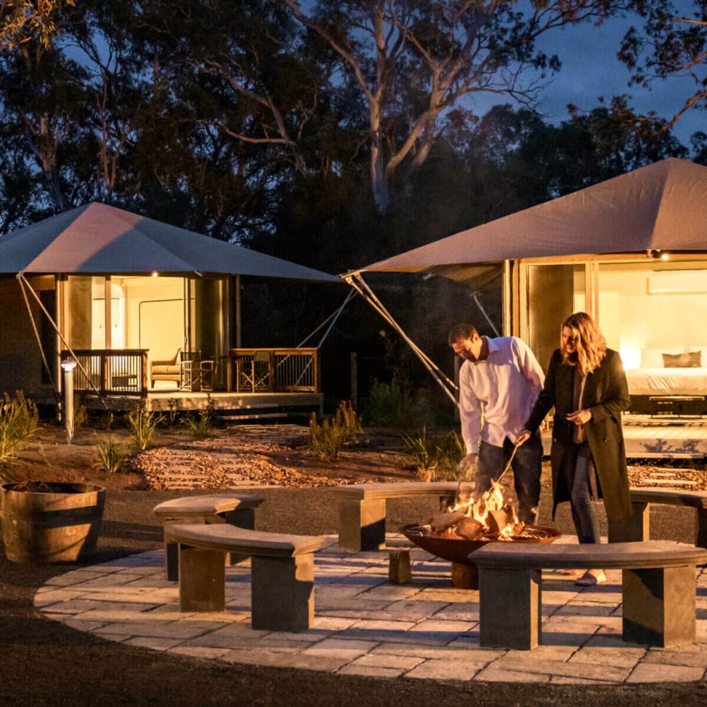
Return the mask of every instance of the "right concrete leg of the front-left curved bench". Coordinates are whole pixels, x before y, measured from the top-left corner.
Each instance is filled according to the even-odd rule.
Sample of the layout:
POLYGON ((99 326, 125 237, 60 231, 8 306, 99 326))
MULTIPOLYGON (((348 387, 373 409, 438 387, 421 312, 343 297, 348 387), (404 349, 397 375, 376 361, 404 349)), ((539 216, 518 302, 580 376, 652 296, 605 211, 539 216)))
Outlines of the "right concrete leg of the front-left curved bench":
POLYGON ((250 579, 253 629, 310 628, 314 621, 314 554, 253 557, 250 579))

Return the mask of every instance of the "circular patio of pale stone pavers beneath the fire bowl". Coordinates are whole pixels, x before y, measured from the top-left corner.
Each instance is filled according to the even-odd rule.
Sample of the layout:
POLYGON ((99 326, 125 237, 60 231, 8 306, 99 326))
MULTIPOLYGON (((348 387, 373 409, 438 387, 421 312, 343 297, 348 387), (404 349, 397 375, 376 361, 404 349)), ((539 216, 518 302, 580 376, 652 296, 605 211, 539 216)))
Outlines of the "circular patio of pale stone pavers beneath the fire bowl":
MULTIPOLYGON (((226 612, 182 614, 177 583, 151 551, 69 571, 35 595, 49 619, 108 641, 225 662, 409 679, 550 683, 684 682, 707 670, 707 569, 697 578, 697 642, 650 648, 621 641, 621 573, 578 588, 544 574, 543 645, 479 647, 479 592, 452 588, 450 565, 412 551, 413 583, 387 582, 387 553, 344 554, 335 536, 315 555, 315 625, 250 628, 250 568, 226 570, 226 612)), ((390 535, 390 547, 407 540, 390 535)), ((564 537, 561 542, 576 542, 564 537)))

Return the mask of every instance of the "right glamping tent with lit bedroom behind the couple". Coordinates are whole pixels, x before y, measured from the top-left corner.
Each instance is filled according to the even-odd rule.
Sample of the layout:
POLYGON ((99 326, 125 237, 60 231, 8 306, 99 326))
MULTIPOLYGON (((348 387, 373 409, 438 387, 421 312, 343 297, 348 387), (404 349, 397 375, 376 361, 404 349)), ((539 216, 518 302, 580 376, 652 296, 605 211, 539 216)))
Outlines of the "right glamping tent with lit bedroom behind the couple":
POLYGON ((386 271, 462 282, 495 271, 503 333, 543 364, 560 322, 588 311, 621 352, 637 408, 707 411, 707 167, 662 160, 343 277, 381 310, 362 274, 386 271))

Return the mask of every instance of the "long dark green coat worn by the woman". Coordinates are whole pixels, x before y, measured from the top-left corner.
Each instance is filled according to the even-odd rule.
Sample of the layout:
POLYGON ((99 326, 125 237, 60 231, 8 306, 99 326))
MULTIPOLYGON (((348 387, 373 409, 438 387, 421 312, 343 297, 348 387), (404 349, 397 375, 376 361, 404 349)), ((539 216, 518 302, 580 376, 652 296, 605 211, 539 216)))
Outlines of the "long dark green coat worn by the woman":
MULTIPOLYGON (((525 427, 534 432, 554 406, 552 428, 552 489, 554 518, 557 504, 569 501, 571 489, 564 483, 562 467, 564 455, 575 450, 574 423, 567 421, 575 411, 573 405, 575 366, 563 363, 562 353, 556 349, 550 359, 545 385, 525 427)), ((624 433, 621 430, 621 412, 631 402, 624 366, 616 351, 607 349, 607 355, 594 373, 587 376, 582 407, 590 410, 592 419, 585 424, 585 432, 597 469, 599 495, 604 498, 609 525, 626 527, 631 518, 629 474, 626 469, 624 433)), ((614 533, 614 537, 617 534, 614 533)))

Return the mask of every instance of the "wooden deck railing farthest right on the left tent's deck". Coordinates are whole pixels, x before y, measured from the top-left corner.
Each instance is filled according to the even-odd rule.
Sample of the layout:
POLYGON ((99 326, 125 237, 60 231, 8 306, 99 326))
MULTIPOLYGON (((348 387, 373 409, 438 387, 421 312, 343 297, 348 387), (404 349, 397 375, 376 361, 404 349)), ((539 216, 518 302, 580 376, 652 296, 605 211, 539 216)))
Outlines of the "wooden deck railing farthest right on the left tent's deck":
POLYGON ((320 392, 318 349, 230 349, 228 390, 320 392))

